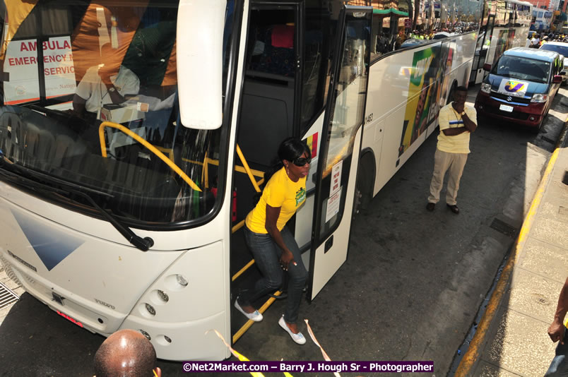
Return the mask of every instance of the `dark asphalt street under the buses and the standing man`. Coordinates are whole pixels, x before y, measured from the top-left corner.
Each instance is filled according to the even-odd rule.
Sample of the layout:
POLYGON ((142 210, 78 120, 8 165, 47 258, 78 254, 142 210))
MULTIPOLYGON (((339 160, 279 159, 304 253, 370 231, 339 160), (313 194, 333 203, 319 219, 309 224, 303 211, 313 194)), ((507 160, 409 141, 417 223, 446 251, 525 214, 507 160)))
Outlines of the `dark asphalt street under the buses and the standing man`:
MULTIPOLYGON (((555 109, 564 107, 565 95, 562 89, 555 109)), ((539 136, 510 124, 480 124, 461 179, 459 215, 443 199, 433 213, 425 210, 437 131, 425 141, 355 217, 348 261, 312 304, 302 303, 300 318, 332 360, 433 360, 434 376, 448 373, 514 241, 495 229, 496 220, 520 226, 564 123, 559 114, 551 112, 539 136)), ((314 343, 295 345, 278 327, 284 304, 276 301, 235 349, 252 360, 322 360, 314 343)), ((92 376, 103 337, 29 294, 0 314, 0 376, 92 376)), ((300 330, 307 333, 303 323, 300 330)), ((181 363, 159 365, 162 376, 190 375, 181 363)))

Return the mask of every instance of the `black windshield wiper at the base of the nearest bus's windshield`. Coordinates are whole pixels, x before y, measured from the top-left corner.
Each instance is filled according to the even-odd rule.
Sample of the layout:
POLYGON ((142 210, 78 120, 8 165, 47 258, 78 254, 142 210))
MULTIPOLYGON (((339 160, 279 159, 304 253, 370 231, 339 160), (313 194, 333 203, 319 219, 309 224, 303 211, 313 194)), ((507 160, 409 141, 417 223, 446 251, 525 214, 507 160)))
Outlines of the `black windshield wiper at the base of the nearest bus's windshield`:
POLYGON ((73 193, 75 195, 82 196, 91 205, 93 205, 93 207, 102 215, 102 217, 105 217, 105 219, 108 222, 110 222, 112 226, 115 229, 117 229, 119 233, 122 234, 122 236, 124 236, 126 240, 128 240, 131 244, 136 246, 137 249, 140 249, 141 251, 148 251, 148 249, 150 249, 150 247, 154 245, 153 239, 151 239, 150 237, 142 238, 140 236, 137 236, 134 232, 132 232, 132 229, 130 229, 127 225, 125 225, 124 222, 122 222, 122 220, 119 220, 116 215, 112 215, 112 213, 108 213, 106 210, 102 209, 102 207, 98 205, 98 203, 88 193, 85 193, 84 191, 90 191, 92 193, 97 193, 99 195, 112 198, 112 195, 110 195, 109 193, 104 193, 102 191, 94 190, 93 188, 87 188, 78 184, 73 184, 71 182, 67 182, 62 179, 57 179, 47 174, 36 172, 35 170, 28 169, 27 167, 14 164, 4 156, 2 150, 0 150, 0 167, 4 168, 6 172, 11 173, 11 174, 6 174, 6 172, 3 172, 2 169, 0 169, 1 175, 7 176, 8 179, 10 179, 11 181, 13 180, 24 181, 25 182, 24 186, 28 186, 32 189, 39 188, 41 190, 50 191, 52 193, 60 193, 60 194, 73 193), (6 167, 9 168, 6 169, 6 167), (65 186, 65 188, 61 189, 61 188, 52 187, 47 184, 42 184, 41 182, 35 181, 28 177, 16 175, 13 172, 11 172, 11 169, 14 168, 36 179, 42 179, 52 184, 65 186))

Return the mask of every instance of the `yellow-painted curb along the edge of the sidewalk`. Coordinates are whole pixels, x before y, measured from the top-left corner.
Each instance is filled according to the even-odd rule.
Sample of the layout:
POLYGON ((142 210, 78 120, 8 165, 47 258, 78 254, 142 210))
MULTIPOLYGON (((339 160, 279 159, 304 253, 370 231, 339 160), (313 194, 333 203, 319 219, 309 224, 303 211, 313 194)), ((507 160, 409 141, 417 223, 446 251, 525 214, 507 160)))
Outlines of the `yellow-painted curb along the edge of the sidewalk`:
POLYGON ((550 173, 555 166, 559 150, 563 148, 563 146, 568 141, 568 119, 564 122, 564 127, 560 132, 560 136, 557 140, 555 145, 555 150, 552 152, 550 156, 550 160, 548 160, 547 167, 543 174, 543 178, 540 180, 540 184, 538 185, 538 189, 535 193, 533 198, 533 203, 531 203, 531 207, 528 210, 528 213, 523 221, 523 225, 521 226, 521 230, 519 232, 519 236, 517 237, 515 243, 512 246, 512 252, 507 258, 507 263, 503 268, 501 277, 499 277, 499 282, 497 282, 497 286, 495 287, 495 291, 491 295, 487 307, 485 309, 485 313, 481 318, 481 321, 478 325, 478 329, 475 331, 475 335, 473 335, 473 339, 470 342, 468 350, 465 354, 463 354, 463 358, 461 359, 458 368, 456 369, 456 373, 454 373, 454 377, 464 377, 464 376, 471 376, 473 371, 473 366, 478 361, 480 357, 480 352, 483 350, 483 346, 485 345, 485 341, 487 338, 487 333, 490 328, 490 325, 495 318, 495 314, 497 313, 497 309, 501 304, 502 298, 504 293, 507 291, 509 286, 509 280, 511 278, 511 273, 513 272, 513 268, 515 267, 517 261, 519 260, 519 254, 523 249, 524 245, 526 244, 526 240, 528 239, 528 233, 533 226, 534 217, 537 213, 538 207, 540 206, 540 201, 542 201, 543 194, 545 192, 545 188, 548 186, 548 181, 550 180, 550 173))

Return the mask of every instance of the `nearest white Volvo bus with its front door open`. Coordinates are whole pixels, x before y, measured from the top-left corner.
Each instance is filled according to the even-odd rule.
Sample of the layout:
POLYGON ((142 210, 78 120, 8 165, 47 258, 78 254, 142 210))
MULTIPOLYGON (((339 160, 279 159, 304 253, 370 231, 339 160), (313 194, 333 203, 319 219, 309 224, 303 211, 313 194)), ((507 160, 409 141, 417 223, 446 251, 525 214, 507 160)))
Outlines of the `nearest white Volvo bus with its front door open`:
POLYGON ((290 223, 311 301, 347 258, 355 199, 468 83, 480 3, 413 6, 2 1, 8 275, 93 333, 141 331, 161 359, 228 357, 208 330, 235 342, 250 325, 231 309, 256 273, 239 228, 280 141, 312 150, 290 223))

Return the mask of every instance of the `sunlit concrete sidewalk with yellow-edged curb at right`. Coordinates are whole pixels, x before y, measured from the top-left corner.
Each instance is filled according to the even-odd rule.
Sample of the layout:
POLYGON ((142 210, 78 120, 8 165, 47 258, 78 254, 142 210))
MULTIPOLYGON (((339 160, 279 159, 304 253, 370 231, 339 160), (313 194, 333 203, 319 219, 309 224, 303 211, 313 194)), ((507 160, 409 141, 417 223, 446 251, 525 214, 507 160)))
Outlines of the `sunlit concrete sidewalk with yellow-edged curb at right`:
POLYGON ((568 123, 454 376, 543 376, 548 337, 568 275, 568 123))

